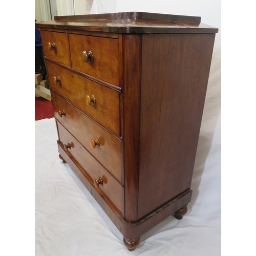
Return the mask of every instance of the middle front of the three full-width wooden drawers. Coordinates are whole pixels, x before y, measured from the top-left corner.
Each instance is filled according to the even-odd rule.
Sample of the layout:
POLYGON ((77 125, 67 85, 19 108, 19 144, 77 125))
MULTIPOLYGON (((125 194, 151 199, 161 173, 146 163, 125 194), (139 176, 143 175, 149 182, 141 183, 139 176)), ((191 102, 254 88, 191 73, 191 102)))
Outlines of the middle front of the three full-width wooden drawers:
POLYGON ((69 132, 117 178, 117 180, 122 182, 121 141, 104 130, 100 125, 84 115, 61 96, 53 91, 51 91, 51 95, 55 118, 65 126, 67 130, 69 130, 69 132), (65 111, 65 115, 59 115, 59 111, 65 111), (95 148, 93 148, 91 140, 96 141, 96 138, 99 140, 100 145, 96 145, 95 148))

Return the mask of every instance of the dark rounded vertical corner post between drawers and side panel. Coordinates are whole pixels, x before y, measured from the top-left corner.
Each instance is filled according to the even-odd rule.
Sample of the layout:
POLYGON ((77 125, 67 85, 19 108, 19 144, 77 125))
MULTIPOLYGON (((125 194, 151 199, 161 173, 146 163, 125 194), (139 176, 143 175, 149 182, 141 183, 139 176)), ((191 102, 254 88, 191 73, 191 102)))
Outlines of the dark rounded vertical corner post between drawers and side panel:
POLYGON ((140 133, 141 35, 123 36, 125 220, 137 221, 140 133))

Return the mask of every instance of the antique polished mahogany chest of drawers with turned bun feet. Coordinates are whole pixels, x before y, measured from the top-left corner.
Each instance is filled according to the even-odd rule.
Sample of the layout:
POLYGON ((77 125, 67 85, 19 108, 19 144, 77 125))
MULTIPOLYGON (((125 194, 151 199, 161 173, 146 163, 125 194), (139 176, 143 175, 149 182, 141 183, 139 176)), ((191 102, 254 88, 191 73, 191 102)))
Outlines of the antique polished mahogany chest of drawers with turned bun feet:
POLYGON ((200 17, 112 13, 40 23, 58 151, 134 250, 182 219, 215 33, 200 17))

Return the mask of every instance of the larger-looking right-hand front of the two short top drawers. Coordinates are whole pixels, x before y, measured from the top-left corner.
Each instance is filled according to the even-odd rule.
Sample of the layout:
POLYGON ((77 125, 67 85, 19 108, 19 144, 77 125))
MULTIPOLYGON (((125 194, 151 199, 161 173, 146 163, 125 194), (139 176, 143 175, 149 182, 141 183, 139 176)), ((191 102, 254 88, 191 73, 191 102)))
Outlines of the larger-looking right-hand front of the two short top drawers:
POLYGON ((72 68, 119 86, 118 39, 70 34, 69 41, 72 68), (83 62, 83 51, 92 52, 92 63, 83 62))

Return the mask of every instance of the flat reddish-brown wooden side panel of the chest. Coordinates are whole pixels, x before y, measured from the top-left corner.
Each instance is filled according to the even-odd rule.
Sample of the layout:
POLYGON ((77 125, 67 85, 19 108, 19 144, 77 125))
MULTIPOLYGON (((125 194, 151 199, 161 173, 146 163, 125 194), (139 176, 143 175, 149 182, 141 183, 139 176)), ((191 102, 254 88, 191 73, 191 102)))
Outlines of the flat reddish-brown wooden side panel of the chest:
POLYGON ((139 219, 190 187, 215 34, 142 38, 139 219))

